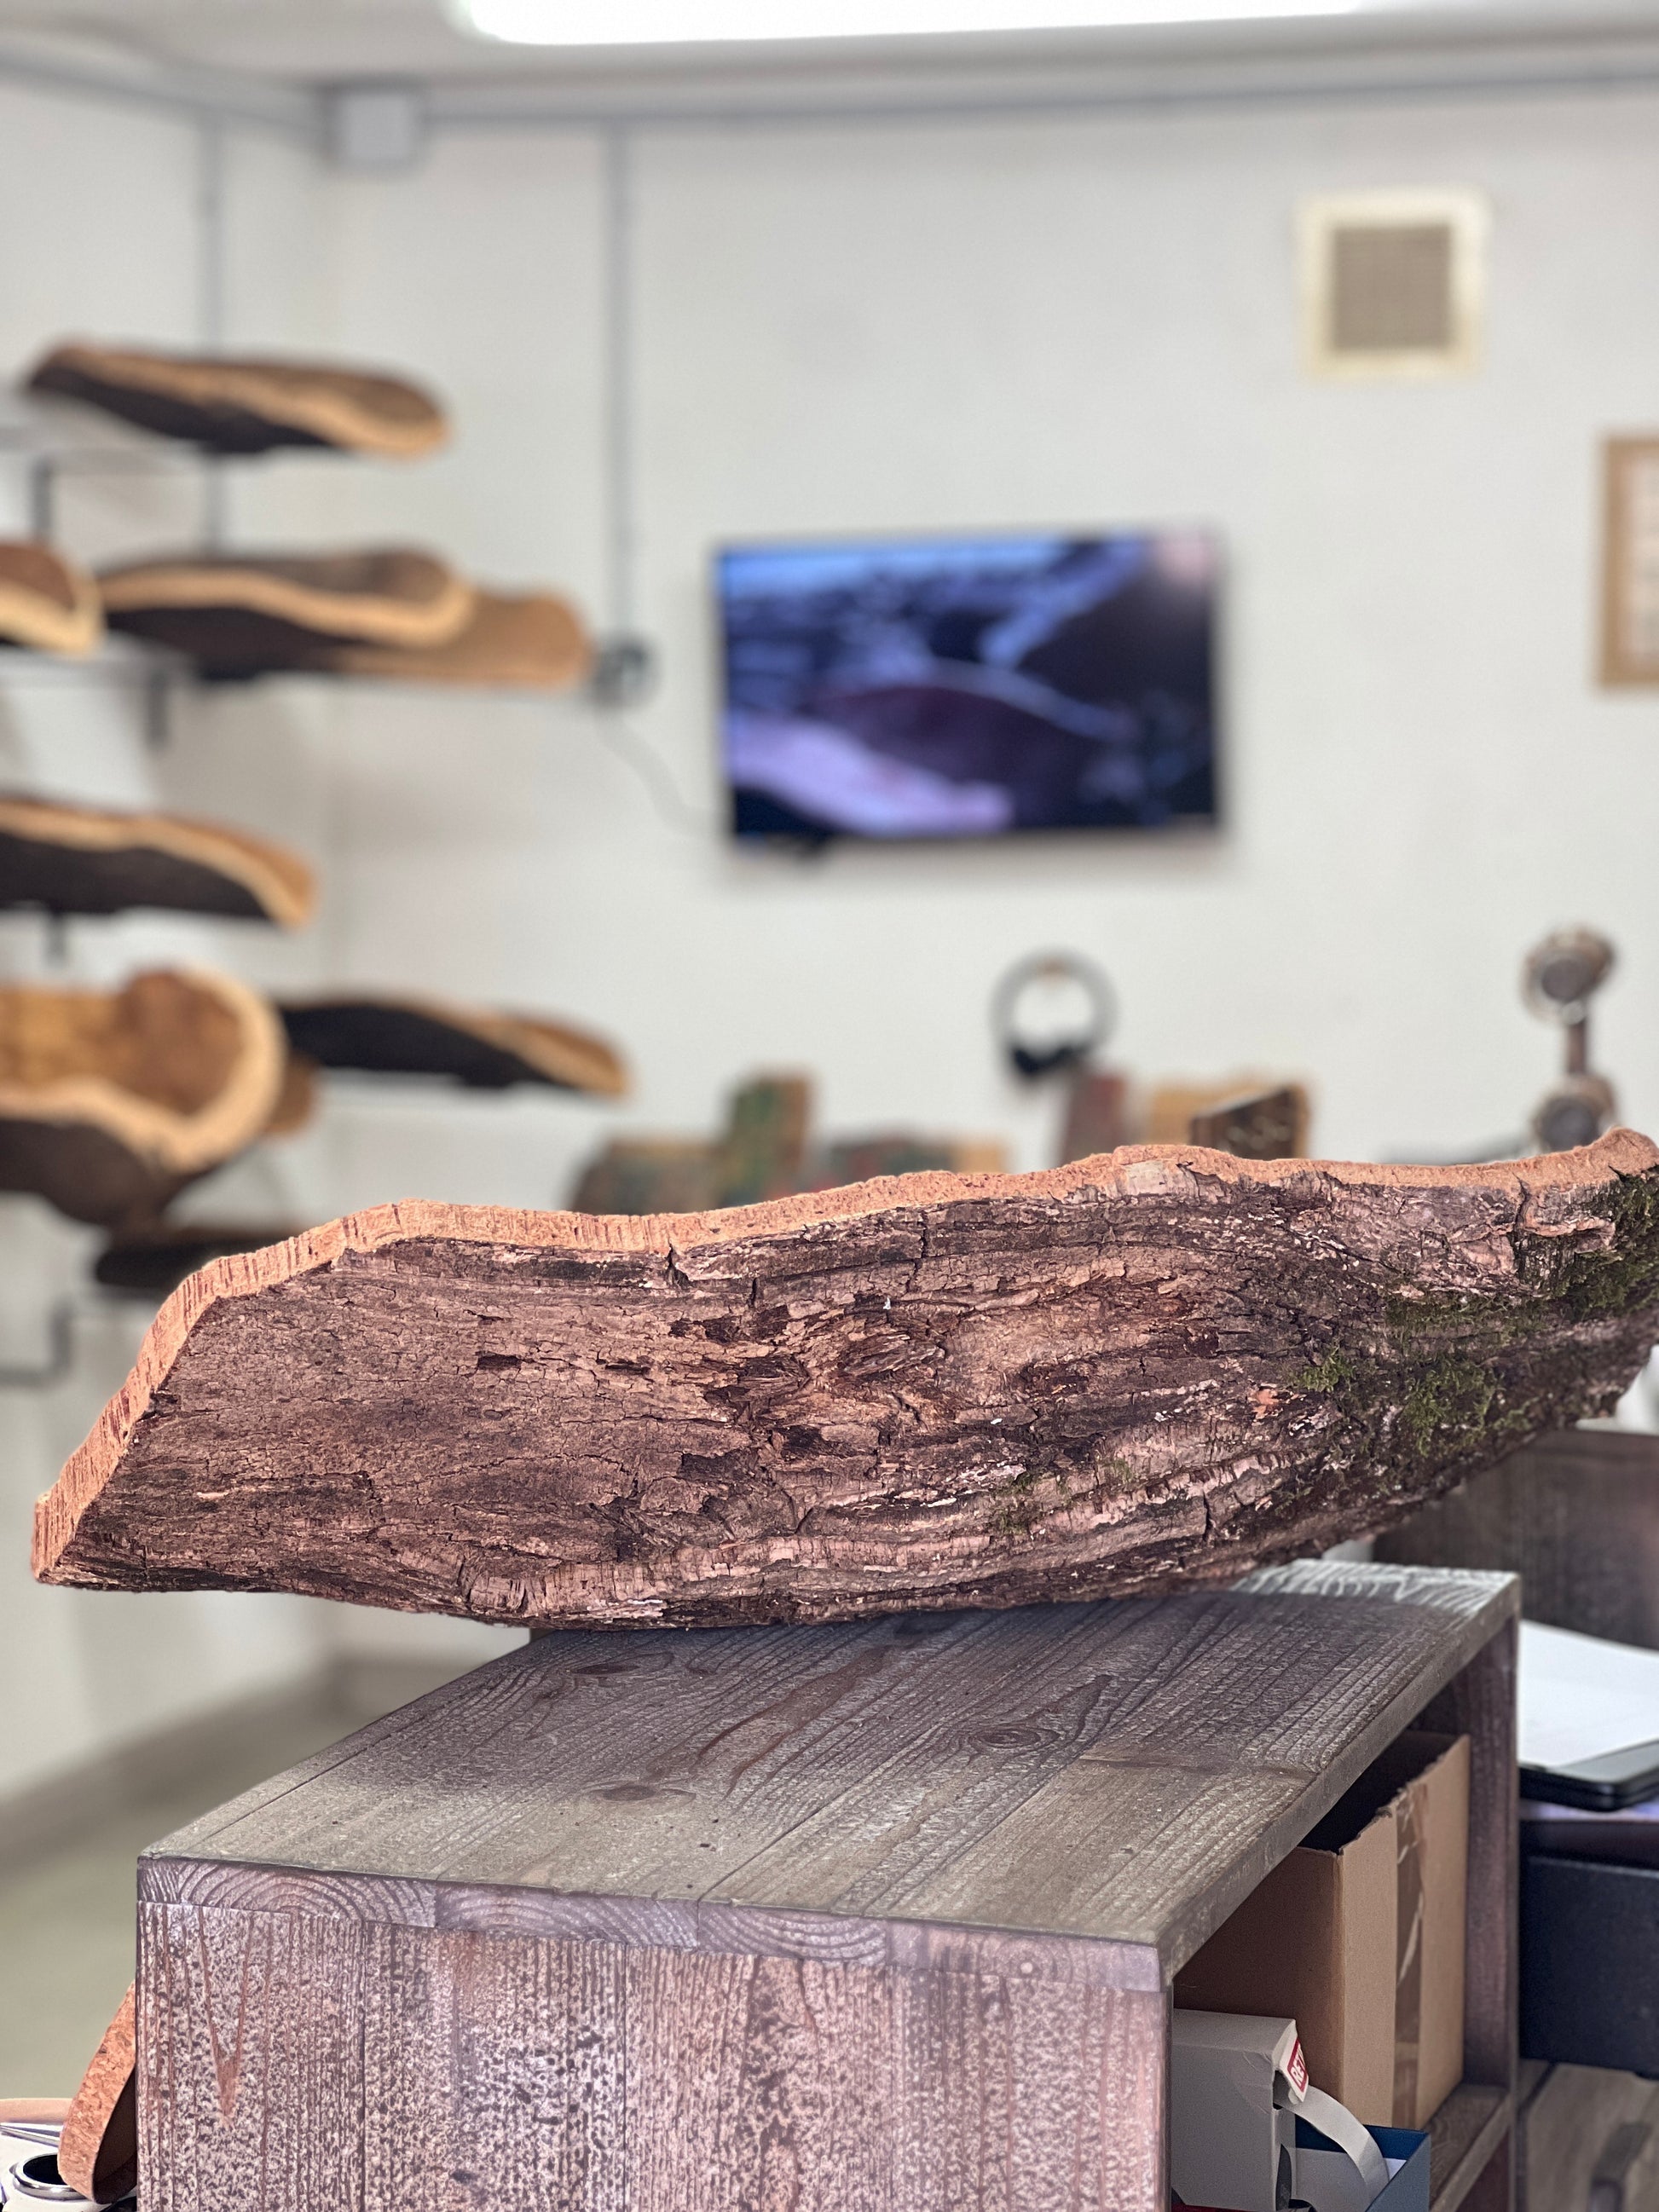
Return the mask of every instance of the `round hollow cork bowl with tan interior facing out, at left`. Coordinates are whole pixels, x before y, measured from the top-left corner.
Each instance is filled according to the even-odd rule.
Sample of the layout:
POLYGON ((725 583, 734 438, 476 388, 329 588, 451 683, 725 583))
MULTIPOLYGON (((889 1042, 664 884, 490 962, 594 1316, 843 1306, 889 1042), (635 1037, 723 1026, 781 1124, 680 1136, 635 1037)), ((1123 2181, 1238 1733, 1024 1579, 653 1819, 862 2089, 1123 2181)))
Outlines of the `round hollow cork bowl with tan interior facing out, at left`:
POLYGON ((0 989, 0 1190, 73 1221, 155 1219, 246 1150, 285 1075, 270 1004, 230 975, 155 969, 122 991, 0 989))

